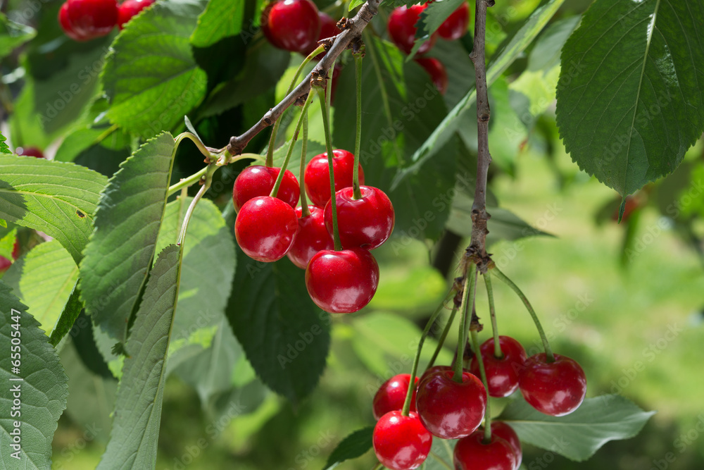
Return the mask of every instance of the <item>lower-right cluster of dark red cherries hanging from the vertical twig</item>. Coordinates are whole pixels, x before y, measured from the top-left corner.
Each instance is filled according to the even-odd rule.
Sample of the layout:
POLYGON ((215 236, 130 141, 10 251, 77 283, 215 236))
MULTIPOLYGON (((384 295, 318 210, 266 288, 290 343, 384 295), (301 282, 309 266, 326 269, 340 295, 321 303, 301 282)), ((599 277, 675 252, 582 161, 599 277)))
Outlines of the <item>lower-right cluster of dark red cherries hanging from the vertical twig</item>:
MULTIPOLYGON (((564 416, 586 395, 586 377, 576 361, 545 353, 527 357, 520 342, 500 336, 501 357, 494 355, 494 339, 479 348, 491 397, 508 397, 517 389, 539 412, 564 416)), ((415 469, 425 462, 432 436, 459 439, 455 445, 456 470, 516 470, 522 459, 521 443, 507 423, 491 423, 491 440, 479 428, 486 412, 486 389, 479 380, 479 360, 472 357, 462 381, 454 380, 449 366, 433 366, 415 378, 410 412, 401 410, 410 386, 410 374, 390 378, 377 391, 374 402, 373 444, 379 462, 391 470, 415 469)))

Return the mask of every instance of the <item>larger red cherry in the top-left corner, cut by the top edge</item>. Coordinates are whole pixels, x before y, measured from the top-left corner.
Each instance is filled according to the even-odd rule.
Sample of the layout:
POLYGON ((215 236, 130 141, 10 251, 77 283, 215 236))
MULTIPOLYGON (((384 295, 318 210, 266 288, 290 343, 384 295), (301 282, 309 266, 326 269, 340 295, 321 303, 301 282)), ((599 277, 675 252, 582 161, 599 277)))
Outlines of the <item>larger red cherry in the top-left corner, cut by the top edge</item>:
POLYGON ((73 32, 86 40, 110 34, 118 23, 118 2, 115 0, 68 0, 66 4, 73 32))

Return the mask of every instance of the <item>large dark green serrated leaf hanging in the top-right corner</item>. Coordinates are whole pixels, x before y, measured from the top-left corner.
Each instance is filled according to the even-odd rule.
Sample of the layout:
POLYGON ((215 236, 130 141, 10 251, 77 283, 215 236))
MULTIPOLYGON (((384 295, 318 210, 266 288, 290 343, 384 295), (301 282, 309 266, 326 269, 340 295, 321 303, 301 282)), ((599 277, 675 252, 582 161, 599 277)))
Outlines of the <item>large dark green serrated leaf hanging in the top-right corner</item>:
POLYGON ((579 168, 626 196, 704 130, 704 4, 597 0, 562 50, 557 121, 579 168))

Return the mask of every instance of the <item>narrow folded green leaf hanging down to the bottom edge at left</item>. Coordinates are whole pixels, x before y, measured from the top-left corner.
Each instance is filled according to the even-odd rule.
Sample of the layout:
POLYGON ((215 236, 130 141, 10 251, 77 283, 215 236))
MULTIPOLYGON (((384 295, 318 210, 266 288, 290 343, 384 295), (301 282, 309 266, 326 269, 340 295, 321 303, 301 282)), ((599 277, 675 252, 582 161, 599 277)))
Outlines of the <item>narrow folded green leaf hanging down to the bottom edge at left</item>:
POLYGON ((181 274, 180 247, 159 253, 134 319, 108 446, 97 470, 153 469, 165 365, 181 274))

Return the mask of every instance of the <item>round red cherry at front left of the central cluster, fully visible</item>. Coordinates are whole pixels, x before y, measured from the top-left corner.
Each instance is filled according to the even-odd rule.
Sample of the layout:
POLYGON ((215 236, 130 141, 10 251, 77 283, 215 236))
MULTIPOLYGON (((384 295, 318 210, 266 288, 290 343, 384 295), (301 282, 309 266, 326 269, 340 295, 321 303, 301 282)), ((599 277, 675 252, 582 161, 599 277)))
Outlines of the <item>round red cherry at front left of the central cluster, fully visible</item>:
POLYGON ((296 211, 277 197, 249 199, 237 214, 234 235, 242 251, 257 261, 282 259, 298 230, 296 211))

